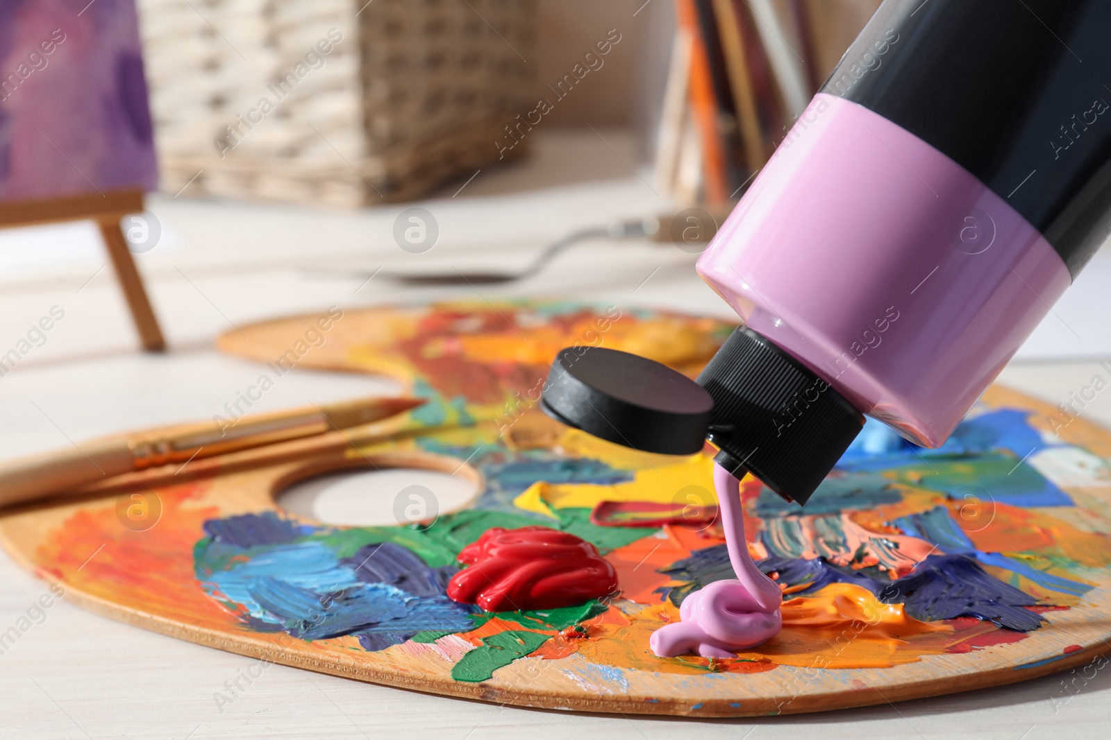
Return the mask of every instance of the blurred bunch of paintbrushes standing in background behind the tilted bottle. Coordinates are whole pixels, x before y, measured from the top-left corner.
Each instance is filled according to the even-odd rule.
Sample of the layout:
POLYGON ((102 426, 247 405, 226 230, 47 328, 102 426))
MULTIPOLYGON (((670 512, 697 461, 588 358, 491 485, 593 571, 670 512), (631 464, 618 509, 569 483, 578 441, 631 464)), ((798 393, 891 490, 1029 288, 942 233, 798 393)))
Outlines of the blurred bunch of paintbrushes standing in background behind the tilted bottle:
POLYGON ((655 180, 683 203, 737 200, 879 0, 675 0, 655 180))

